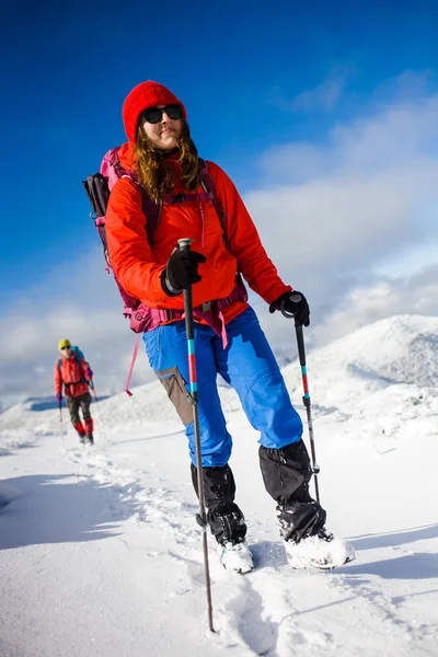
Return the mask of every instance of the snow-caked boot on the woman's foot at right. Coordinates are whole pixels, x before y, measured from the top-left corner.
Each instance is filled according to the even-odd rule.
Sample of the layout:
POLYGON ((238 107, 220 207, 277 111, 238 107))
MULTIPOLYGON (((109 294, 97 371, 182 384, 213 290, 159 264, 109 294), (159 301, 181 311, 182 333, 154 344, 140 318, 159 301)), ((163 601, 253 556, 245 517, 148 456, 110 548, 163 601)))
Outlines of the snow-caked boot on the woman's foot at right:
POLYGON ((335 539, 321 529, 316 534, 301 539, 298 543, 285 541, 286 554, 292 568, 316 568, 331 570, 355 558, 355 549, 344 539, 335 539))

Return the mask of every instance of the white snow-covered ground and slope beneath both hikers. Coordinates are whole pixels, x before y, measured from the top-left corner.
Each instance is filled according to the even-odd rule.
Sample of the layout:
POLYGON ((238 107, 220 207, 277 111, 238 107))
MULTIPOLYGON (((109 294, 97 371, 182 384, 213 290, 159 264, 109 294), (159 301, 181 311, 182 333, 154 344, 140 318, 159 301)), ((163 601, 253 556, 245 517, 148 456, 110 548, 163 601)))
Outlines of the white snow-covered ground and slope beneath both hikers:
MULTIPOLYGON (((397 316, 309 355, 327 527, 357 551, 331 573, 288 567, 257 435, 221 389, 258 567, 224 572, 210 541, 215 634, 186 439, 161 385, 94 404, 94 448, 66 411, 64 441, 56 410, 4 412, 1 657, 436 655, 437 336, 438 318, 397 316)), ((301 412, 299 366, 284 371, 301 412)))

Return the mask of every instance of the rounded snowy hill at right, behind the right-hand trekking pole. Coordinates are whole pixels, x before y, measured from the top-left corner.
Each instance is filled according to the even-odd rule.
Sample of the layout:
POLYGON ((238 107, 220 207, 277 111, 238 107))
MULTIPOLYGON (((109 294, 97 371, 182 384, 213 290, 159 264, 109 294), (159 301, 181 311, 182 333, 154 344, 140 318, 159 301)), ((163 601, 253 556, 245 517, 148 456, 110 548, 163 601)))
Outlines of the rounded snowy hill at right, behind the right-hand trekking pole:
MULTIPOLYGON (((358 328, 309 353, 312 403, 354 413, 368 394, 394 384, 438 384, 438 318, 395 315, 358 328)), ((301 394, 297 362, 284 374, 295 403, 301 394)))

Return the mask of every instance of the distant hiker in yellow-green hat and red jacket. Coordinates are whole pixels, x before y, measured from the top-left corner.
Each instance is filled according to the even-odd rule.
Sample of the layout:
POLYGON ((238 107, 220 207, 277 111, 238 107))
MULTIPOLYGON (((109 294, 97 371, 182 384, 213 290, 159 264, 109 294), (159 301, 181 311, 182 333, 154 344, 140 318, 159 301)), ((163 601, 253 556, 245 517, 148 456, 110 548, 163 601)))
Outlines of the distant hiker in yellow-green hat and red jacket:
POLYGON ((93 372, 82 353, 77 347, 72 347, 69 339, 60 339, 58 349, 60 358, 55 362, 54 369, 56 399, 61 404, 64 385, 71 424, 78 431, 82 443, 88 440, 90 445, 93 445, 93 418, 90 414, 91 394, 89 392, 89 381, 93 378, 93 372), (79 415, 80 408, 84 425, 79 415))

